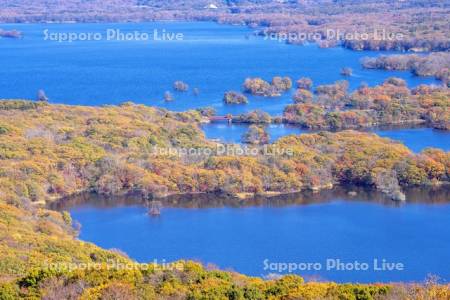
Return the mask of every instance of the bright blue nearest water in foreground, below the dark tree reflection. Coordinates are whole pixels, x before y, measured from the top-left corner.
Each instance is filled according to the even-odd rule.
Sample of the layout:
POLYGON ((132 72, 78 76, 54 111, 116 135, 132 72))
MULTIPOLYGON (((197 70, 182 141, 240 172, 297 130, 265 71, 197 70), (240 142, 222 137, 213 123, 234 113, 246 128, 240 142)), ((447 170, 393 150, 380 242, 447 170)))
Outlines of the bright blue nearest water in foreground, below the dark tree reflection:
POLYGON ((449 204, 389 207, 336 200, 287 206, 166 208, 158 218, 142 206, 71 210, 80 238, 119 248, 140 262, 196 259, 254 276, 276 273, 264 261, 320 263, 298 272, 339 282, 450 279, 449 204), (367 263, 367 271, 327 269, 327 259, 367 263), (374 260, 402 263, 403 271, 374 271, 374 260))

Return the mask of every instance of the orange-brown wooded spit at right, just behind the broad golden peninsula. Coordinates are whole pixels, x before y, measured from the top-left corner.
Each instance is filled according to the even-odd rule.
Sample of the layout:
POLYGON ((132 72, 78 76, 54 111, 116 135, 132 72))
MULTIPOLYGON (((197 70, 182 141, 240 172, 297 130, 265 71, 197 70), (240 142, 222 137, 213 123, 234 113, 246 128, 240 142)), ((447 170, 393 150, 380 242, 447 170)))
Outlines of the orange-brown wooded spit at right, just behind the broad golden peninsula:
POLYGON ((299 88, 296 103, 284 110, 284 121, 316 129, 415 123, 450 129, 445 87, 422 85, 410 90, 404 80, 389 78, 379 86, 362 85, 351 94, 347 90, 346 81, 317 86, 314 93, 299 88))

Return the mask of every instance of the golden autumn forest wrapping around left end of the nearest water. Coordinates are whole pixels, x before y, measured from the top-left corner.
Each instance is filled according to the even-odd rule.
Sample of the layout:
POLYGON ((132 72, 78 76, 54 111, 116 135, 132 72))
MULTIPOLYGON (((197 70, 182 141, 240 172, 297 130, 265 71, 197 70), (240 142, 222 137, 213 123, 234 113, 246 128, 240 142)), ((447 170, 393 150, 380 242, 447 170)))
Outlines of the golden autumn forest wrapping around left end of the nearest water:
POLYGON ((428 149, 413 154, 401 144, 355 131, 288 136, 270 144, 266 152, 260 148, 248 155, 221 154, 217 144, 200 131, 202 117, 201 111, 173 113, 131 102, 82 107, 1 101, 2 298, 127 295, 127 299, 229 299, 233 294, 236 299, 244 295, 251 299, 334 299, 345 294, 350 299, 359 299, 356 295, 372 299, 390 293, 423 297, 449 293, 448 286, 436 284, 337 285, 304 283, 297 276, 264 281, 207 271, 192 262, 181 262, 183 271, 164 271, 155 265, 146 270, 114 269, 107 266, 108 260, 132 261, 75 240, 67 213, 39 205, 82 191, 107 195, 138 191, 164 197, 188 192, 285 193, 345 183, 370 185, 395 196, 401 193, 401 186, 449 183, 449 153, 428 149), (155 147, 211 152, 180 155, 155 152, 155 147), (55 262, 90 262, 99 267, 75 271, 48 268, 55 262))

